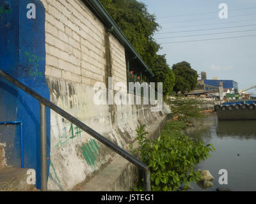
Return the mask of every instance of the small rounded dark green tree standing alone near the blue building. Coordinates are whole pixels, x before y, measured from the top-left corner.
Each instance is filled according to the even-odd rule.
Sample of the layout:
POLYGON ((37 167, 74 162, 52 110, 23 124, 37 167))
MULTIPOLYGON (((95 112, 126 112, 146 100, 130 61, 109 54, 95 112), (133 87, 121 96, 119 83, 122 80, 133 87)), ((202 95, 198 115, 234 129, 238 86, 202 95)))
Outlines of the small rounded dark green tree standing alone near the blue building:
POLYGON ((173 64, 172 70, 175 73, 173 91, 185 93, 195 89, 198 75, 188 62, 173 64))

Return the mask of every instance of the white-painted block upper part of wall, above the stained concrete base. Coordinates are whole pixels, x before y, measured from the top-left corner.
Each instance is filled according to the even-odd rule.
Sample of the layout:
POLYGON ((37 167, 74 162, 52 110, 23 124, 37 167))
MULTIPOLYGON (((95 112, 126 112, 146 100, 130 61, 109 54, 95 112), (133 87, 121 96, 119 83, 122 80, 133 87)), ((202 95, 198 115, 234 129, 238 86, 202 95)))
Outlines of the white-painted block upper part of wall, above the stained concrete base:
MULTIPOLYGON (((45 75, 94 85, 104 82, 105 29, 81 0, 42 0, 45 6, 45 75)), ((125 49, 110 37, 113 77, 126 83, 125 49)))

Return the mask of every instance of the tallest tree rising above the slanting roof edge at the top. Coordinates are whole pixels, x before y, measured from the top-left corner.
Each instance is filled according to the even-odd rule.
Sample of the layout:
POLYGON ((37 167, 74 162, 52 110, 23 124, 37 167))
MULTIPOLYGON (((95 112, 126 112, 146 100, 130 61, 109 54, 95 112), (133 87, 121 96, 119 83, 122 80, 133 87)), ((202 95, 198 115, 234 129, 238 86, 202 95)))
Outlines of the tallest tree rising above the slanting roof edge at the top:
POLYGON ((151 67, 160 45, 153 39, 159 25, 156 16, 148 13, 145 4, 136 0, 100 0, 131 42, 143 61, 151 67))

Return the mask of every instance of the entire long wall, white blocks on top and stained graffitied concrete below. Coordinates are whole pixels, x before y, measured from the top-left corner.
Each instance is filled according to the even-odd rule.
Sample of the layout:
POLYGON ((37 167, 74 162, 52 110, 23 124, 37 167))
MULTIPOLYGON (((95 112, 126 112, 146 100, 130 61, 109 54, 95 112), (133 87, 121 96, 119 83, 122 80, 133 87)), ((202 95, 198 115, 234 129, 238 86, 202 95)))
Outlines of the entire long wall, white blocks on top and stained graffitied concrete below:
MULTIPOLYGON (((79 0, 42 0, 45 6, 45 76, 51 101, 90 128, 128 149, 136 128, 150 128, 162 112, 150 105, 95 105, 95 82, 127 83, 125 48, 79 0), (108 53, 107 53, 108 52, 108 53), (108 59, 109 54, 109 59, 108 59)), ((70 190, 115 156, 57 113, 51 111, 48 188, 70 190)))

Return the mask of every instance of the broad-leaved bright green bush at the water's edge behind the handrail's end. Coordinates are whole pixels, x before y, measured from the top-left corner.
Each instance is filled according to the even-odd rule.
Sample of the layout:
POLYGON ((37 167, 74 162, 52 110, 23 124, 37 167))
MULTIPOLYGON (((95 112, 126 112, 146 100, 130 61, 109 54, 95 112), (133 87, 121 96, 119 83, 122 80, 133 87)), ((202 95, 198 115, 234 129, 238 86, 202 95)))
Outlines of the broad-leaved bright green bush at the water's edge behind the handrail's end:
MULTIPOLYGON (((209 157, 214 147, 184 135, 185 128, 182 121, 169 121, 159 140, 148 140, 144 126, 138 128, 139 149, 135 152, 150 168, 152 191, 176 191, 180 185, 186 190, 190 182, 200 179, 194 165, 209 157)), ((134 187, 134 191, 142 189, 142 182, 134 187)))

